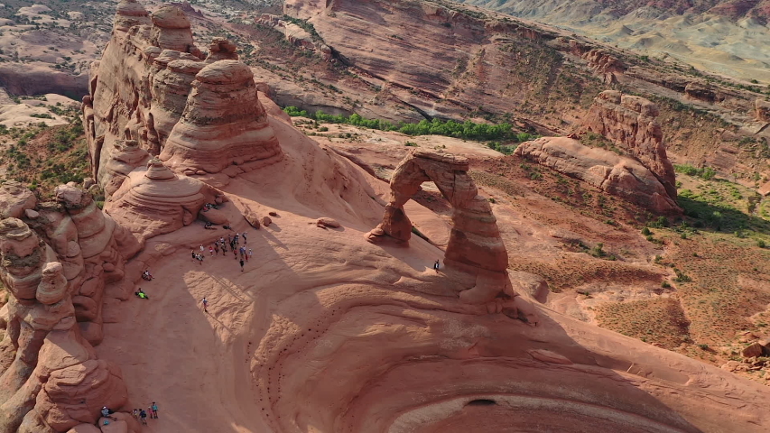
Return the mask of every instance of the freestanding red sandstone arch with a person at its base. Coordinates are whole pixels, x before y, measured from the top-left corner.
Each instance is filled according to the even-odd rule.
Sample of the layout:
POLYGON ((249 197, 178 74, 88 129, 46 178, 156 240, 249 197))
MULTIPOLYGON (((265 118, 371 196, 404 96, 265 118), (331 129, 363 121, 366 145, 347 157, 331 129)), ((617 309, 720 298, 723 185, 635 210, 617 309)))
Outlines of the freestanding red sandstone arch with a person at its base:
MULTIPOLYGON (((508 253, 497 229, 496 217, 487 199, 478 195, 476 183, 468 175, 468 159, 448 153, 417 150, 407 155, 391 178, 390 201, 383 222, 367 234, 370 242, 385 236, 407 243, 412 223, 404 204, 425 181, 433 181, 452 207, 450 242, 444 256, 446 267, 470 273, 476 284, 460 292, 468 303, 483 304, 516 296, 508 280, 508 253)), ((497 302, 499 305, 499 302, 497 302)), ((500 307, 495 307, 499 312, 500 307)))

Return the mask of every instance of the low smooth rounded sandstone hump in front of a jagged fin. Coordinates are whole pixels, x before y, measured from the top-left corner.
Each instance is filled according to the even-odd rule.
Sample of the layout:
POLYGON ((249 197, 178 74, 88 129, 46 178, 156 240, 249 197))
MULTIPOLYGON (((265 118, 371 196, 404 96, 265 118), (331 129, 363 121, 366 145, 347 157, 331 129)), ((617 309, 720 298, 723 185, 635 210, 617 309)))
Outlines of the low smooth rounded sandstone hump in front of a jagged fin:
POLYGON ((682 208, 671 198, 658 177, 634 159, 589 148, 567 137, 545 137, 522 143, 515 154, 656 213, 682 213, 682 208))

